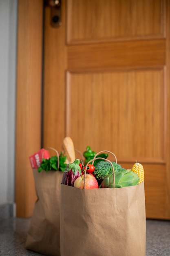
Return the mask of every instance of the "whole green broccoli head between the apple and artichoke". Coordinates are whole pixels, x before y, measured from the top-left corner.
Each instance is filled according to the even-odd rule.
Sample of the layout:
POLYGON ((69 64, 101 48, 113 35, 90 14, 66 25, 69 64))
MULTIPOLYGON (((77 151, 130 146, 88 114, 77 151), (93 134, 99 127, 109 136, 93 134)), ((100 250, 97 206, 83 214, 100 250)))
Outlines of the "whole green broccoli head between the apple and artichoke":
MULTIPOLYGON (((115 162, 112 162, 115 173, 118 173, 119 171, 125 170, 121 167, 120 164, 116 164, 115 162)), ((100 161, 95 166, 94 175, 97 177, 97 179, 104 179, 106 175, 108 175, 110 172, 112 172, 112 166, 109 162, 100 161)))

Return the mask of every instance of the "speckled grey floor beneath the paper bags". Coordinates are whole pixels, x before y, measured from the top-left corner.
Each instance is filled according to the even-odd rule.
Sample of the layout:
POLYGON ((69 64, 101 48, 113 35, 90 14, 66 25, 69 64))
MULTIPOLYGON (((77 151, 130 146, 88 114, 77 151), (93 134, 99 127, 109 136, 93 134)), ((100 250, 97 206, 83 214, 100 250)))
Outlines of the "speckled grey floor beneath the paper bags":
MULTIPOLYGON (((42 256, 25 249, 29 223, 30 218, 0 220, 0 255, 42 256)), ((170 256, 170 221, 146 221, 146 256, 170 256)))

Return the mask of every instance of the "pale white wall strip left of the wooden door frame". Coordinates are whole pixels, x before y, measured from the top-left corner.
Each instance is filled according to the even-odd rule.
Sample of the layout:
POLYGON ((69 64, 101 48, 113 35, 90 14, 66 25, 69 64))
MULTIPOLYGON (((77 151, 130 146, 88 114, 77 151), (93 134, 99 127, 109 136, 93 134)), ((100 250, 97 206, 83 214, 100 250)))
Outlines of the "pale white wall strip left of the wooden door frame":
POLYGON ((0 205, 15 202, 17 0, 0 0, 0 205))

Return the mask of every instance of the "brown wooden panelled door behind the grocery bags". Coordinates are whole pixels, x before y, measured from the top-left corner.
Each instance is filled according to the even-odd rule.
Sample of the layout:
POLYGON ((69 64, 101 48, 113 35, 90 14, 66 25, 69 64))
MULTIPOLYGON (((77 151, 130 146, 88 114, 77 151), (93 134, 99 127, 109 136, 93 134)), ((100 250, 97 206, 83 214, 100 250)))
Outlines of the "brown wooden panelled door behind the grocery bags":
POLYGON ((50 13, 43 146, 70 136, 124 168, 140 162, 147 218, 170 219, 170 1, 62 0, 59 28, 50 13))

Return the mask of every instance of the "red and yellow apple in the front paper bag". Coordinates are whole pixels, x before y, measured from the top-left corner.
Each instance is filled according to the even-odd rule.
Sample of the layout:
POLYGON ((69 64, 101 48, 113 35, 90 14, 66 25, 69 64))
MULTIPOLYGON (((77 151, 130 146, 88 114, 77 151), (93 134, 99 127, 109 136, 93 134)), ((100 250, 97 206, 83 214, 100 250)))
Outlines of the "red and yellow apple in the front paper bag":
MULTIPOLYGON (((86 174, 86 189, 98 189, 99 185, 96 178, 91 174, 86 174)), ((78 177, 74 182, 74 187, 79 189, 84 189, 84 175, 78 177)))

